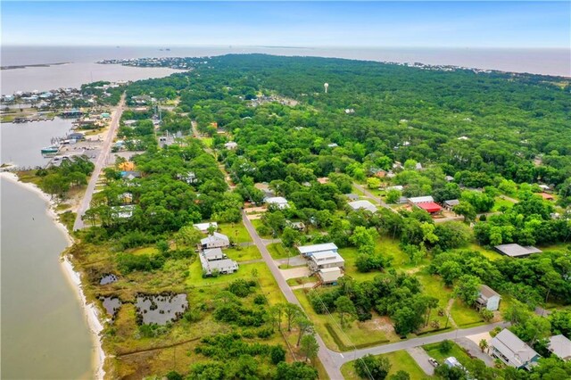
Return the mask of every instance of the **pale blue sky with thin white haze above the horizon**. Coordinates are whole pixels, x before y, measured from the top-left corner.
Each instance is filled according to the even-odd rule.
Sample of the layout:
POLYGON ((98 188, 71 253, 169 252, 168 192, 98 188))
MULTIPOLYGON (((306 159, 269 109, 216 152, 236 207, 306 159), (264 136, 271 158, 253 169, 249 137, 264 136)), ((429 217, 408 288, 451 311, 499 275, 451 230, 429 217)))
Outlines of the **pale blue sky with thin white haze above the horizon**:
POLYGON ((3 45, 571 45, 568 1, 2 1, 1 6, 3 45))

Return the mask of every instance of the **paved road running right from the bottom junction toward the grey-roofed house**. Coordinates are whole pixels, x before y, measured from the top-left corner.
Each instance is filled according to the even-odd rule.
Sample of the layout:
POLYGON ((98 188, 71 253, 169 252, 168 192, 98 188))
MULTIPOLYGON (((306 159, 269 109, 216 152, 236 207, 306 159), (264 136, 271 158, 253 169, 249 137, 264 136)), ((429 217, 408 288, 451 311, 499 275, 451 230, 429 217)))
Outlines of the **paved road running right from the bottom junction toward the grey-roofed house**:
POLYGON ((335 359, 335 362, 337 363, 339 368, 341 368, 341 366, 347 361, 359 359, 368 354, 380 355, 382 353, 407 350, 413 347, 418 347, 429 343, 438 343, 446 339, 454 340, 468 335, 475 335, 475 334, 485 333, 487 331, 492 331, 492 329, 495 328, 496 326, 503 327, 503 326, 508 326, 508 324, 506 324, 505 322, 497 322, 491 325, 464 328, 464 329, 454 330, 448 333, 423 336, 420 338, 409 339, 407 341, 402 341, 397 343, 382 344, 375 347, 369 347, 366 349, 345 352, 344 354, 335 351, 330 351, 330 354, 335 359))

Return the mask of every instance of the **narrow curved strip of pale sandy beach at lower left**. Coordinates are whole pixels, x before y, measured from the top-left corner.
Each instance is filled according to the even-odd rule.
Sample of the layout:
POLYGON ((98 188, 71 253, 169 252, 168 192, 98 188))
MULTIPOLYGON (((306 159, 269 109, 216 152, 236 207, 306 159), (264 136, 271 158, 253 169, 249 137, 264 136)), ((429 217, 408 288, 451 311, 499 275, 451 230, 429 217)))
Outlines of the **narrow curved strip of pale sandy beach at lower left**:
MULTIPOLYGON (((62 235, 65 236, 67 247, 70 247, 70 245, 73 244, 73 238, 70 236, 69 231, 65 226, 63 226, 62 222, 58 219, 57 213, 54 211, 54 206, 56 205, 56 202, 54 202, 54 200, 52 200, 48 194, 44 193, 39 187, 37 187, 34 184, 21 182, 18 179, 18 176, 16 176, 12 172, 2 171, 0 172, 0 176, 18 186, 22 186, 28 189, 29 191, 31 191, 34 194, 37 194, 37 196, 46 201, 46 213, 51 219, 54 220, 55 226, 62 232, 62 235)), ((86 296, 83 293, 83 289, 81 287, 81 274, 75 271, 75 269, 73 268, 69 255, 63 255, 62 258, 60 259, 60 262, 62 263, 63 275, 68 279, 70 285, 72 285, 72 287, 74 288, 75 293, 77 294, 79 301, 81 302, 82 309, 84 310, 84 313, 87 318, 87 326, 89 326, 89 331, 91 332, 92 340, 94 343, 93 363, 95 365, 95 368, 93 368, 93 370, 95 378, 103 379, 103 377, 105 376, 105 372, 103 370, 105 353, 103 351, 103 345, 100 337, 100 333, 103 330, 103 323, 99 319, 99 312, 93 303, 87 303, 86 296)))

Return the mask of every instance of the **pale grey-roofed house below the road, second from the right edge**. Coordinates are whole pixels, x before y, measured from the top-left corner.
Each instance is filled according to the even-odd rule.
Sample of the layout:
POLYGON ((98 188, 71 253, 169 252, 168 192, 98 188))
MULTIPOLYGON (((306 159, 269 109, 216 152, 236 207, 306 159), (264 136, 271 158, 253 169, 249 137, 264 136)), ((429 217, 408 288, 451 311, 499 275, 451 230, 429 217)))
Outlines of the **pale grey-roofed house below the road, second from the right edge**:
POLYGON ((508 366, 529 369, 540 358, 527 343, 519 339, 507 328, 492 338, 490 342, 492 357, 498 358, 508 366))

